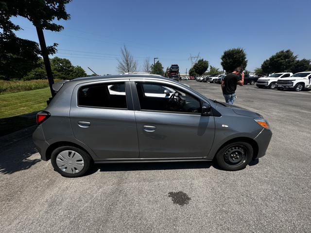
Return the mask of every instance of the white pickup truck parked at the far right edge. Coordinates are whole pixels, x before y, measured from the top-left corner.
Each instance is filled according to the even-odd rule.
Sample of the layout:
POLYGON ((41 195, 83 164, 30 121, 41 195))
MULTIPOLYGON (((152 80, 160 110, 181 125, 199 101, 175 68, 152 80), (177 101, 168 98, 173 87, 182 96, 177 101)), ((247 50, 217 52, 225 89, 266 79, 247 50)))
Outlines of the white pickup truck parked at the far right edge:
POLYGON ((295 91, 311 89, 311 71, 299 72, 291 77, 279 79, 276 82, 276 88, 278 90, 294 89, 295 91))

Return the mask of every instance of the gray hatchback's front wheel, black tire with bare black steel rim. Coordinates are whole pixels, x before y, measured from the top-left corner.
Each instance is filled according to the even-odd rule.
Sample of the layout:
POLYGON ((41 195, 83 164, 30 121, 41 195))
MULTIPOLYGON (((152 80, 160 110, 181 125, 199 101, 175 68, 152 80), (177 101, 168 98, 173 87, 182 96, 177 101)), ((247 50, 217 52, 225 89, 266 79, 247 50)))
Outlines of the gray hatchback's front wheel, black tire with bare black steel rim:
POLYGON ((225 145, 216 154, 218 166, 227 171, 244 169, 253 159, 253 147, 247 142, 233 142, 225 145))

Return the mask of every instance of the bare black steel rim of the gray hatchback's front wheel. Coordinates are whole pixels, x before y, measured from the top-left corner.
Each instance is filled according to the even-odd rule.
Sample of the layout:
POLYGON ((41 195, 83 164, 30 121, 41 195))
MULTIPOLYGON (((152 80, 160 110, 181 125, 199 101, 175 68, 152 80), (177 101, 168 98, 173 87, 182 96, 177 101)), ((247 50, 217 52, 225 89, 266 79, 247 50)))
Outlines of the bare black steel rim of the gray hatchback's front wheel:
POLYGON ((224 153, 225 163, 229 166, 239 166, 246 161, 247 150, 241 145, 234 145, 224 153))

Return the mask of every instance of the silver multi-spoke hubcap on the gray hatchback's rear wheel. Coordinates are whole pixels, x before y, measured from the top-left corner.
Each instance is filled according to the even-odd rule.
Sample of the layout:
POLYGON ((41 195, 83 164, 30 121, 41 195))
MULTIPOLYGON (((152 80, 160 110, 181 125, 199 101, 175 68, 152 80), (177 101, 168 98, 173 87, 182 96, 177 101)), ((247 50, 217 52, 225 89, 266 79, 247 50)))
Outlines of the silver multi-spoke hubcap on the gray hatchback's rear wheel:
POLYGON ((84 160, 78 152, 64 150, 57 155, 56 164, 62 171, 69 174, 75 174, 83 169, 84 160))

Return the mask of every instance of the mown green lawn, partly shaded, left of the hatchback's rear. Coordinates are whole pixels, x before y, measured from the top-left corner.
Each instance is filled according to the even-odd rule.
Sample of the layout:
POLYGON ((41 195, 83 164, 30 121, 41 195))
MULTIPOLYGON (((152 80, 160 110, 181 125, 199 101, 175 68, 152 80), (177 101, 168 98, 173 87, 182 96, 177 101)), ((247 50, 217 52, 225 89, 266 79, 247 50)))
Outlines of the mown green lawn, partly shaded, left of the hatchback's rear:
POLYGON ((50 88, 0 95, 0 136, 35 125, 35 114, 47 106, 50 88))

